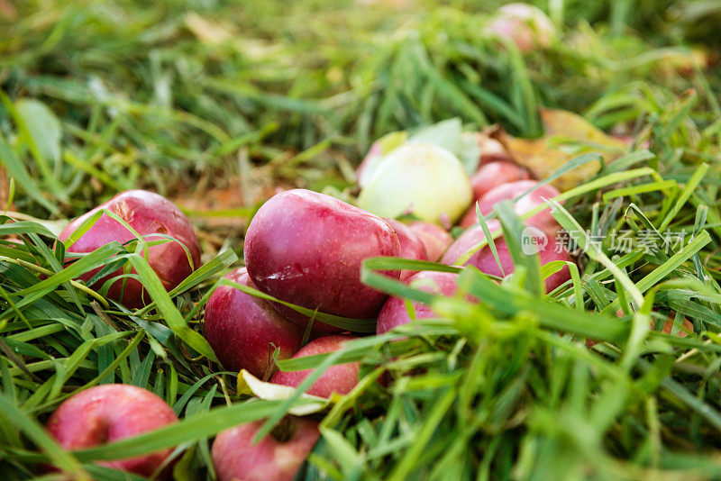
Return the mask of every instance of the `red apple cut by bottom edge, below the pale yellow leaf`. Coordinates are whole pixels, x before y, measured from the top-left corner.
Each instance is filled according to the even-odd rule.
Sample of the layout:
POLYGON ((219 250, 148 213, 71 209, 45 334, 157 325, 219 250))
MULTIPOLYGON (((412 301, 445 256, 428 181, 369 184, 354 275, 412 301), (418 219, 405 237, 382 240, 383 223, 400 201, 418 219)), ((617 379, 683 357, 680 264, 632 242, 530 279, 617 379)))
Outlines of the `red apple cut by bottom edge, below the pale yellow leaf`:
POLYGON ((292 481, 320 438, 318 423, 288 416, 258 444, 262 421, 220 432, 211 455, 219 481, 292 481))

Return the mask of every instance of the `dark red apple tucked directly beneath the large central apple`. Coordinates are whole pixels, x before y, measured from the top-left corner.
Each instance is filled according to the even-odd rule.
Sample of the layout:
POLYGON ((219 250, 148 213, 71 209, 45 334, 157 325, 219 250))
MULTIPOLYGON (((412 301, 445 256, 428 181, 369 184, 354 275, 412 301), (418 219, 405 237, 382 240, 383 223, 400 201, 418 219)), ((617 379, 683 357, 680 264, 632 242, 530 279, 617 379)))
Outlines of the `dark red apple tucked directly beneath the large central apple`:
MULTIPOLYGON (((255 288, 246 268, 237 268, 228 279, 255 288)), ((226 369, 246 369, 255 377, 266 378, 275 368, 271 358, 275 348, 279 358, 293 356, 303 342, 303 328, 287 321, 260 297, 232 286, 220 286, 205 305, 205 339, 226 369)))

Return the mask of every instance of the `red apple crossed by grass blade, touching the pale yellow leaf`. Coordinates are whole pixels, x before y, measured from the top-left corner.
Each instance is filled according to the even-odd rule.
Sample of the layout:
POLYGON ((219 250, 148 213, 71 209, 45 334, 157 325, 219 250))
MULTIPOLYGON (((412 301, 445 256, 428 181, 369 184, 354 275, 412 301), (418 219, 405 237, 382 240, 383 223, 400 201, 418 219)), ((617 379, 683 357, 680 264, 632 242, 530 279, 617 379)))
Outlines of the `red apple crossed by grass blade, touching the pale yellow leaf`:
MULTIPOLYGON (((315 356, 316 354, 324 354, 326 352, 334 352, 343 347, 343 344, 349 340, 356 339, 353 336, 335 335, 324 336, 315 340, 311 340, 297 351, 293 358, 306 358, 307 356, 315 356)), ((360 363, 349 362, 347 364, 338 364, 328 368, 324 374, 315 381, 306 391, 309 395, 317 395, 320 397, 330 397, 333 393, 339 395, 347 395, 351 389, 358 384, 358 371, 360 363)), ((304 371, 278 371, 270 379, 273 384, 297 387, 303 380, 310 376, 313 369, 304 371)))

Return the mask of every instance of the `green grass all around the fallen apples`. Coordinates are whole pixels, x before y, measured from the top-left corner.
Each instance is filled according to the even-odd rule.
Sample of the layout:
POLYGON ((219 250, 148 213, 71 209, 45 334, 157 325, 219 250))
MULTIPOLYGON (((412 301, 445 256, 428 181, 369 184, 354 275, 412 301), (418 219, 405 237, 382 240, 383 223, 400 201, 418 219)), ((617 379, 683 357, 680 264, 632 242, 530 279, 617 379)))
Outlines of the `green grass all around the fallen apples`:
MULTIPOLYGON (((0 217, 0 477, 40 476, 50 462, 77 479, 127 479, 92 461, 177 447, 178 479, 213 479, 215 433, 256 419, 269 430, 307 403, 238 394, 199 335, 261 187, 351 195, 351 166, 380 135, 459 117, 469 130, 501 123, 533 137, 539 105, 584 113, 639 146, 557 205, 580 246, 578 272, 538 295, 549 269, 515 249, 516 276, 501 286, 463 270, 462 293, 483 301, 473 304, 375 274, 420 265, 368 260, 365 282, 442 316, 315 359, 321 369, 360 360, 363 380, 313 414, 323 438, 298 479, 721 477, 719 68, 670 57, 697 42, 717 55, 704 21, 716 5, 550 2, 563 41, 520 55, 482 38, 491 2, 17 4, 0 27, 0 161, 13 179, 0 217), (62 263, 64 219, 136 186, 181 205, 235 189, 233 202, 193 212, 221 239, 204 238, 204 267, 170 293, 142 242, 62 263), (218 217, 229 223, 213 231, 218 217), (649 235, 667 230, 682 240, 649 235), (636 240, 625 252, 612 245, 620 231, 636 240), (73 281, 109 255, 138 271, 150 307, 128 310, 73 281), (669 313, 694 333, 660 332, 669 313), (41 423, 110 382, 151 389, 182 421, 60 449, 41 423)), ((515 214, 496 215, 519 246, 515 214)))

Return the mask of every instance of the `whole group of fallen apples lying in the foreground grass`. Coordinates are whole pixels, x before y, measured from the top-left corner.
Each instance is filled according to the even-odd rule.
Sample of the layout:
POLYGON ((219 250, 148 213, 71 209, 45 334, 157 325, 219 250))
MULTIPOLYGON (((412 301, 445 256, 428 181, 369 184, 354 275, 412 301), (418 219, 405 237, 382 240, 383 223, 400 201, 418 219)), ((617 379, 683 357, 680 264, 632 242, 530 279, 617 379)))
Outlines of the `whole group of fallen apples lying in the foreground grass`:
MULTIPOLYGON (((245 266, 227 278, 284 304, 229 285, 216 288, 205 305, 204 334, 223 368, 234 372, 244 369, 272 384, 297 387, 312 370, 278 371, 275 355, 286 359, 333 352, 359 335, 311 320, 287 304, 345 318, 374 319, 377 333, 411 322, 403 300, 388 298, 360 282, 363 260, 382 256, 453 264, 470 247, 485 240, 474 200, 485 215, 498 202, 515 199, 537 186, 528 171, 512 162, 500 145, 483 136, 473 139, 479 142, 480 161, 472 176, 456 155, 441 146, 406 142, 382 152, 376 144, 360 167, 358 206, 304 189, 281 192, 263 204, 246 232, 245 266), (415 220, 394 219, 408 216, 415 220), (467 230, 453 241, 447 228, 461 218, 461 227, 467 230), (310 340, 304 346, 306 330, 310 340)), ((558 194, 551 186, 540 186, 516 202, 516 213, 527 213, 544 198, 558 194)), ((198 268, 200 246, 187 217, 162 196, 140 190, 116 195, 68 224, 59 240, 66 243, 69 262, 78 257, 76 254, 91 252, 108 242, 136 238, 136 233, 105 213, 79 235, 78 227, 100 209, 114 213, 144 237, 149 244, 146 259, 168 290, 198 268)), ((542 263, 570 260, 565 247, 555 243, 559 226, 548 211, 526 222, 538 235, 552 240, 540 252, 542 263)), ((488 227, 499 229, 495 220, 488 221, 488 227)), ((488 246, 464 265, 497 277, 511 274, 514 266, 503 237, 497 238, 496 248, 502 271, 488 246)), ((133 272, 128 276, 123 268, 114 272, 100 269, 82 278, 127 307, 149 303, 148 293, 133 272)), ((457 291, 457 274, 430 270, 384 274, 429 293, 455 295, 457 291)), ((568 268, 548 277, 547 290, 569 277, 568 268)), ((435 315, 430 306, 415 304, 417 319, 435 315)), ((324 398, 347 395, 358 383, 359 368, 357 362, 333 366, 307 394, 324 398)), ((64 448, 81 449, 177 421, 170 406, 149 391, 104 385, 70 397, 52 414, 47 427, 64 448)), ((289 416, 269 436, 253 444, 261 424, 246 423, 218 434, 212 455, 219 479, 292 479, 320 435, 315 420, 289 416)), ((141 476, 163 477, 169 476, 169 454, 166 449, 104 464, 141 476)))

